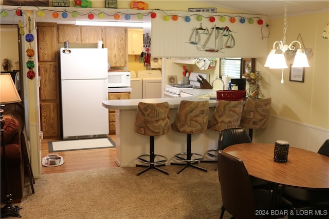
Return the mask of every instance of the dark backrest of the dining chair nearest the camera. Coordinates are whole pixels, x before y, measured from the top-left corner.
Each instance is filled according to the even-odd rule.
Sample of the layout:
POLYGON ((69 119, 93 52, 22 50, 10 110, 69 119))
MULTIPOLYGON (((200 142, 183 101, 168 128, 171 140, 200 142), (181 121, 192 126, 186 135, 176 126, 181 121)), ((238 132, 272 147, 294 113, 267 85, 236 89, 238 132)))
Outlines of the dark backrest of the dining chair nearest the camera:
POLYGON ((218 178, 225 210, 235 218, 255 218, 255 199, 243 161, 218 151, 218 178))

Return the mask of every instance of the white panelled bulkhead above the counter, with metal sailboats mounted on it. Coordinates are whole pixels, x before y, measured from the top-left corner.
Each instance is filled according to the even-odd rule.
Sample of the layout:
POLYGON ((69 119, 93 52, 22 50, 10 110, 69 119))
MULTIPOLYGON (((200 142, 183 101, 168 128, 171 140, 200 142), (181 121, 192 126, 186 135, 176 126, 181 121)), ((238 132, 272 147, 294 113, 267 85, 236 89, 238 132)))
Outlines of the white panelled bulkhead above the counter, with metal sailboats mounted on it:
MULTIPOLYGON (((200 16, 203 17, 200 21, 199 13, 196 15, 192 12, 177 12, 179 17, 176 21, 169 19, 169 21, 163 22, 162 16, 168 15, 168 13, 161 11, 156 11, 156 13, 157 17, 150 19, 152 23, 151 35, 154 35, 152 41, 155 41, 152 42, 151 46, 154 57, 211 58, 214 55, 215 57, 236 57, 236 54, 241 57, 267 57, 268 55, 268 38, 262 37, 262 34, 266 35, 267 32, 264 30, 262 33, 262 26, 256 22, 254 24, 231 23, 229 19, 226 19, 225 22, 220 19, 211 22, 208 17, 214 16, 214 13, 200 13, 200 16), (189 22, 184 19, 186 16, 191 17, 189 22), (200 23, 202 23, 202 28, 200 28, 200 23), (213 30, 215 25, 216 30, 213 30), (226 26, 231 31, 225 33, 226 26), (211 32, 212 36, 209 37, 211 32), (222 45, 217 43, 218 46, 210 46, 211 44, 215 45, 211 42, 214 42, 212 37, 216 33, 218 34, 217 41, 222 38, 222 45), (198 36, 200 36, 200 40, 198 36), (209 40, 206 44, 208 37, 209 40), (203 48, 204 45, 205 48, 203 48)), ((218 16, 221 15, 220 13, 217 14, 218 16)), ((260 16, 260 18, 263 21, 267 19, 266 16, 260 16)))

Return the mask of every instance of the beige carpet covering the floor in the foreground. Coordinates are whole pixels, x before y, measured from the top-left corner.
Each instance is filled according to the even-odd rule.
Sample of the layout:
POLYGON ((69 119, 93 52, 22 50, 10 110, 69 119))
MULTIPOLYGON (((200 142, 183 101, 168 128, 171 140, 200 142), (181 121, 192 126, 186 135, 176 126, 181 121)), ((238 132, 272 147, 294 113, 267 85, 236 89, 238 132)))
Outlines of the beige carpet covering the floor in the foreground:
MULTIPOLYGON (((23 218, 219 218, 221 191, 214 163, 161 167, 169 175, 142 167, 115 167, 45 174, 36 179, 35 194, 19 206, 23 218)), ((225 212, 224 218, 231 216, 225 212)))

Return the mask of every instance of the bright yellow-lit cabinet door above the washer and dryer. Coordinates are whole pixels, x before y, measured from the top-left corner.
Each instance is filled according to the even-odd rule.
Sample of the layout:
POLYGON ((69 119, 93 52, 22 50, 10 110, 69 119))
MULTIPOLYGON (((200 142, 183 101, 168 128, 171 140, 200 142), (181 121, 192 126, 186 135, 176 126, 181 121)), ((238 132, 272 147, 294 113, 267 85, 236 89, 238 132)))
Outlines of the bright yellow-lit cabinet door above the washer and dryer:
POLYGON ((143 51, 143 29, 128 29, 128 54, 140 55, 143 51))

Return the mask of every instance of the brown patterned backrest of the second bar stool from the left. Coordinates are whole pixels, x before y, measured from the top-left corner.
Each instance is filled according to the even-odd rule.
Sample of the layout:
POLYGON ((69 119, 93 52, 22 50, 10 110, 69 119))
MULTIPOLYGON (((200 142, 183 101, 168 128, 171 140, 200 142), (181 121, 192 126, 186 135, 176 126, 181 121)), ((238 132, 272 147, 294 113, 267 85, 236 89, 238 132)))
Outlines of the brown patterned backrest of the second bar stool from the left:
POLYGON ((171 128, 180 133, 198 134, 207 130, 208 101, 181 101, 171 128))

